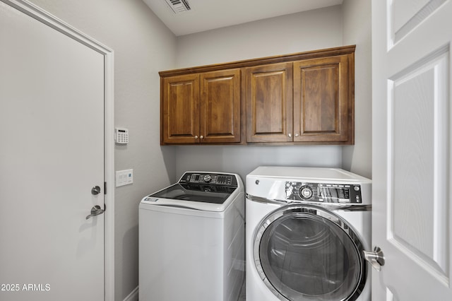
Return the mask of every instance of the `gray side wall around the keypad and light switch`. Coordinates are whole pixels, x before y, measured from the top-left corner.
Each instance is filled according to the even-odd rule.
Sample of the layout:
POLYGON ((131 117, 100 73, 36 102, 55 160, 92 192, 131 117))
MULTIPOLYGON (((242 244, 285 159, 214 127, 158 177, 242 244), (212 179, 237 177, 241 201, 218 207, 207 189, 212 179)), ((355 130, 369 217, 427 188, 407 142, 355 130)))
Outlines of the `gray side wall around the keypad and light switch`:
POLYGON ((177 39, 141 0, 32 2, 114 50, 114 122, 130 131, 115 169, 133 168, 134 180, 115 189, 115 300, 124 300, 138 285, 138 203, 175 178, 174 149, 160 148, 158 71, 175 67, 177 39))

